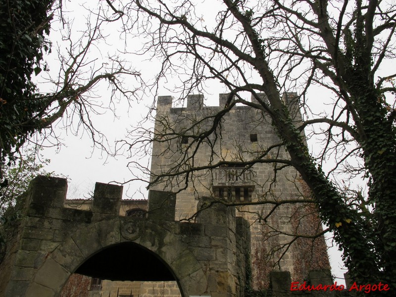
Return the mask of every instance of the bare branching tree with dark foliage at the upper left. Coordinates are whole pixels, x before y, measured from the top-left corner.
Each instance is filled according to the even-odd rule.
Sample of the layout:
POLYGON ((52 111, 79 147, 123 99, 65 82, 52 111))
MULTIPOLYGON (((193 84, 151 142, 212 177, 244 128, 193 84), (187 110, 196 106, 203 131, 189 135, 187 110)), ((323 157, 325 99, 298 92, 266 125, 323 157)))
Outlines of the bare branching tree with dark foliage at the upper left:
POLYGON ((82 13, 86 20, 76 30, 73 19, 64 11, 64 4, 5 1, 0 11, 5 20, 0 34, 4 49, 0 60, 0 180, 4 186, 3 172, 15 162, 19 148, 32 141, 37 133, 42 139, 55 137, 56 143, 53 125, 60 119, 65 127, 73 125, 74 131, 85 129, 95 146, 106 150, 106 137, 92 121, 92 115, 114 113, 118 100, 126 98, 131 102, 140 85, 140 73, 131 63, 114 53, 104 56, 97 48, 107 37, 104 26, 117 20, 120 14, 111 8, 108 11, 107 3, 104 3, 106 10, 99 6, 90 11, 81 6, 80 13, 87 12, 82 13), (52 39, 50 23, 54 31, 52 39), (54 37, 59 39, 56 46, 54 37), (57 52, 56 61, 50 61, 51 50, 57 52), (46 80, 40 89, 47 91, 39 90, 37 79, 32 77, 39 74, 46 80), (132 86, 129 77, 137 81, 136 86, 132 86), (95 88, 99 84, 110 89, 106 101, 97 99, 95 88))

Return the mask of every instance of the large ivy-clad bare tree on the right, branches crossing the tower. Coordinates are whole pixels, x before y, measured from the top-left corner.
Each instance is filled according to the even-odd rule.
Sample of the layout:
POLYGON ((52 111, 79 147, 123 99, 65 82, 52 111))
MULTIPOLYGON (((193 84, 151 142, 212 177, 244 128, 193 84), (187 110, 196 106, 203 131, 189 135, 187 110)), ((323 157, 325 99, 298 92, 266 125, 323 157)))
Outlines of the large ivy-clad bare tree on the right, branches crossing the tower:
MULTIPOLYGON (((162 183, 184 189, 203 169, 223 165, 272 163, 275 177, 293 167, 312 193, 308 202, 316 205, 343 248, 352 277, 362 284, 381 281, 395 288, 396 74, 386 65, 395 58, 396 6, 376 0, 223 0, 218 6, 136 0, 120 3, 117 10, 126 16, 125 28, 135 26, 150 37, 144 50, 162 58, 154 85, 179 76, 180 99, 205 93, 210 80, 220 81, 230 93, 222 108, 182 131, 168 125, 166 131, 155 128, 147 131, 146 140, 129 143, 147 152, 153 142, 191 140, 173 166, 151 173, 149 187, 162 183), (201 11, 215 8, 213 24, 201 11), (328 93, 309 93, 318 86, 328 93), (246 91, 251 101, 240 95, 246 91), (282 94, 296 91, 296 104, 282 99, 282 94), (311 110, 312 97, 319 97, 327 111, 311 110), (194 162, 199 147, 221 142, 221 122, 239 104, 267 117, 279 144, 262 148, 250 159, 194 162), (297 121, 291 116, 296 106, 304 111, 297 121), (319 151, 308 150, 304 129, 310 131, 308 139, 322 141, 319 151), (287 153, 280 154, 282 149, 287 153), (356 178, 367 191, 350 186, 356 178)), ((161 118, 164 125, 167 120, 161 118)), ((162 155, 180 154, 175 146, 164 145, 162 155)))

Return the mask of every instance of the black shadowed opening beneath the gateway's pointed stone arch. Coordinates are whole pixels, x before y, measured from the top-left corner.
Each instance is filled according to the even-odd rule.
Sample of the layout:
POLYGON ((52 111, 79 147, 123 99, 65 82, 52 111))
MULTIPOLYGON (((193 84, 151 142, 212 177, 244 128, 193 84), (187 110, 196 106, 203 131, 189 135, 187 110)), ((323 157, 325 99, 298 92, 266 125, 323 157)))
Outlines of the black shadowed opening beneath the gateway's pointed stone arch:
POLYGON ((149 249, 127 242, 107 247, 75 273, 111 281, 175 281, 170 268, 149 249))

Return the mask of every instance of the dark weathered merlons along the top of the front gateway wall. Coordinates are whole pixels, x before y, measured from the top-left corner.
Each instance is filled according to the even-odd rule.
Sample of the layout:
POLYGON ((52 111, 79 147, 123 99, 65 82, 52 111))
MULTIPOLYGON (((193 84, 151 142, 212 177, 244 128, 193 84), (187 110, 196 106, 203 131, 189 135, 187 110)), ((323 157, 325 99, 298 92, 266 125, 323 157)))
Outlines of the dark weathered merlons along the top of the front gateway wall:
MULTIPOLYGON (((97 215, 120 215, 120 207, 122 203, 122 191, 123 186, 96 183, 94 196, 90 200, 88 209, 76 209, 72 206, 64 207, 67 203, 67 180, 65 178, 58 177, 45 177, 38 176, 31 182, 28 194, 27 194, 27 214, 36 217, 53 216, 55 212, 59 212, 60 208, 65 208, 65 214, 71 212, 77 214, 80 212, 90 212, 97 215), (57 209, 57 211, 55 211, 57 209)), ((202 198, 207 200, 208 198, 202 198)), ((151 220, 163 220, 163 221, 174 221, 175 220, 175 205, 176 195, 172 192, 165 191, 148 191, 148 206, 147 215, 145 216, 151 220)), ((227 209, 218 211, 220 205, 215 207, 217 211, 212 213, 211 216, 207 216, 206 213, 211 213, 213 210, 205 209, 201 211, 199 223, 201 224, 213 224, 213 219, 216 217, 218 220, 215 224, 222 222, 222 225, 233 224, 230 222, 230 218, 235 220, 233 216, 230 216, 227 209), (205 214, 205 215, 203 215, 205 214)), ((235 211, 234 211, 235 212, 235 211)), ((73 217, 78 217, 78 215, 73 217)), ((91 215, 91 216, 92 216, 91 215)), ((123 216, 123 215, 122 215, 123 216)), ((65 216, 62 216, 63 218, 65 216)), ((86 216, 84 217, 86 218, 86 216)))

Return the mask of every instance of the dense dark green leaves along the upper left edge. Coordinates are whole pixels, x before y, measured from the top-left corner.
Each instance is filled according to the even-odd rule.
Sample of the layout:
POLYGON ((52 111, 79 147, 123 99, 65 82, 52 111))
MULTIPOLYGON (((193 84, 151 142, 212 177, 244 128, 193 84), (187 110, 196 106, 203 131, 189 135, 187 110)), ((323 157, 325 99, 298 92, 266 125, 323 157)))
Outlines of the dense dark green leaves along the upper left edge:
POLYGON ((0 162, 14 161, 14 151, 35 130, 32 119, 46 99, 37 95, 32 74, 40 73, 49 51, 48 0, 5 0, 0 5, 0 162))

